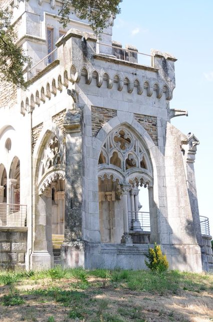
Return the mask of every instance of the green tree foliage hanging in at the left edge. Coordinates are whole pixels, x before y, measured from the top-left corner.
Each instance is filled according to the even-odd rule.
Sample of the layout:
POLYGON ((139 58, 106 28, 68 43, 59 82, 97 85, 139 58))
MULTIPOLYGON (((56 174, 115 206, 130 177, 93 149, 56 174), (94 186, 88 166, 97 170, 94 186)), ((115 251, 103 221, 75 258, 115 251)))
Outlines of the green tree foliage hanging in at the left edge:
POLYGON ((30 58, 16 45, 17 35, 9 14, 0 11, 0 79, 26 88, 23 69, 30 58))

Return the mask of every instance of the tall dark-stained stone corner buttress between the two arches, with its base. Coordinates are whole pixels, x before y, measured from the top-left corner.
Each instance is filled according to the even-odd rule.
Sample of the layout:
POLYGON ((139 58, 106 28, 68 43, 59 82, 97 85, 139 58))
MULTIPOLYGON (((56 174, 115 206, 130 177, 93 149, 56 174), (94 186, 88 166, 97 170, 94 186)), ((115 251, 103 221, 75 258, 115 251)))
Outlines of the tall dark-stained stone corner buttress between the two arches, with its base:
MULTIPOLYGON (((76 102, 76 92, 68 90, 76 102)), ((84 267, 85 243, 82 240, 82 108, 73 104, 68 110, 66 129, 65 240, 61 248, 63 267, 84 267)))

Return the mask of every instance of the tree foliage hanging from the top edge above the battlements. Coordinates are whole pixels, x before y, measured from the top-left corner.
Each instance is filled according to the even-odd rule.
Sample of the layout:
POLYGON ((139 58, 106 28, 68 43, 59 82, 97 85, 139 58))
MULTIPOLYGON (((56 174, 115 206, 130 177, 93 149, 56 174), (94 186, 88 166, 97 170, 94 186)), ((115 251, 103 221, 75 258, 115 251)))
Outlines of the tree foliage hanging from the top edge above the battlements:
POLYGON ((63 0, 59 11, 61 23, 65 28, 74 10, 80 19, 87 19, 92 30, 98 34, 107 27, 110 15, 120 13, 121 2, 122 0, 63 0))

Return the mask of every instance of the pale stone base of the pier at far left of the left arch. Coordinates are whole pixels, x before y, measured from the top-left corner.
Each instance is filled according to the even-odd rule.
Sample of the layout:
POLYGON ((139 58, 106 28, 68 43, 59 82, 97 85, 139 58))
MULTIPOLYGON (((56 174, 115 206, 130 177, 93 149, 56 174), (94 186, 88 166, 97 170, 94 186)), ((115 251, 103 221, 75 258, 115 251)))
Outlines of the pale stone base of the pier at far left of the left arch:
POLYGON ((54 266, 53 254, 45 251, 34 251, 31 254, 32 270, 47 270, 54 266))

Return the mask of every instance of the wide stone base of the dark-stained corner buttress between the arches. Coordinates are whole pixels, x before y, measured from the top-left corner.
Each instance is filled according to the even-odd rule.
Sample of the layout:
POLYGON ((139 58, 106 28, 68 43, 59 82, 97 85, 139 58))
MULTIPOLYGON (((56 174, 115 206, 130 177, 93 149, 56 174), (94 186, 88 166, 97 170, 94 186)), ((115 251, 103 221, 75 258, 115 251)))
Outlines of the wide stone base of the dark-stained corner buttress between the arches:
POLYGON ((63 268, 85 268, 85 243, 83 240, 65 241, 61 247, 63 268))

